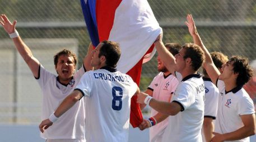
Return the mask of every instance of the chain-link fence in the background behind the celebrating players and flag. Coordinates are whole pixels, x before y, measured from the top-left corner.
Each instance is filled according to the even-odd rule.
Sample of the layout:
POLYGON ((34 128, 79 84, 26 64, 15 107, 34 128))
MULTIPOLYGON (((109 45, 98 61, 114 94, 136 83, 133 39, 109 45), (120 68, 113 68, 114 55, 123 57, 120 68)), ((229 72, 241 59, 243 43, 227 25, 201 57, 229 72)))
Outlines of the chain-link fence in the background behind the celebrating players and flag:
MULTIPOLYGON (((184 24, 187 14, 192 13, 210 51, 256 59, 256 1, 148 2, 164 30, 164 42, 193 42, 184 24)), ((53 55, 61 48, 74 50, 81 67, 90 39, 80 1, 1 0, 0 3, 0 13, 11 21, 18 21, 19 34, 46 69, 55 72, 53 55)), ((3 29, 0 29, 0 38, 0 123, 38 124, 43 107, 41 90, 3 29)), ((141 90, 145 90, 157 74, 156 66, 156 58, 143 65, 141 90)))

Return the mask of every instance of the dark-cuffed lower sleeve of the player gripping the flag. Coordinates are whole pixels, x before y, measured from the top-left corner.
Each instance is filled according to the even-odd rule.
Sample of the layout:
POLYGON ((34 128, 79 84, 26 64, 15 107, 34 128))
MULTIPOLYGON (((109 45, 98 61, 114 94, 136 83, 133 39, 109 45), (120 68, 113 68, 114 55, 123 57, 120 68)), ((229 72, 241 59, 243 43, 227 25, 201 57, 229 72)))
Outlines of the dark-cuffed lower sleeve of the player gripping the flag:
POLYGON ((172 101, 179 102, 184 110, 189 108, 195 101, 195 92, 193 92, 193 88, 188 83, 181 83, 180 86, 174 92, 172 97, 172 101))

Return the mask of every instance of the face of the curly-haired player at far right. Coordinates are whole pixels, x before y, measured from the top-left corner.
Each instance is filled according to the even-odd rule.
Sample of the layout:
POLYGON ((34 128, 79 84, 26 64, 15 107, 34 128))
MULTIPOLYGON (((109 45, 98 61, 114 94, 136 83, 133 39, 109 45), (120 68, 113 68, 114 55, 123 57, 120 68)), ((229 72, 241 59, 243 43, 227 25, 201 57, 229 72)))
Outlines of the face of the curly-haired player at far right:
POLYGON ((220 74, 220 77, 219 77, 220 80, 223 81, 225 79, 229 79, 234 75, 233 64, 234 64, 234 61, 227 61, 226 64, 222 65, 222 68, 221 68, 222 73, 220 74))

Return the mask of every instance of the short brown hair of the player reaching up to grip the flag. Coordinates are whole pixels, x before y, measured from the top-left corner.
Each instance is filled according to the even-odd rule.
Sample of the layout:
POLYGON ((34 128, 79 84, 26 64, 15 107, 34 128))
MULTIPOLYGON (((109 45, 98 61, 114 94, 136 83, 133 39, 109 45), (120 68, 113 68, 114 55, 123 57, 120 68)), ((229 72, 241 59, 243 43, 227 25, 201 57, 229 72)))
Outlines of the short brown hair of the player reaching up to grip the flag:
POLYGON ((184 59, 190 58, 192 60, 192 68, 197 71, 204 62, 204 52, 200 46, 188 43, 182 46, 185 49, 184 59))

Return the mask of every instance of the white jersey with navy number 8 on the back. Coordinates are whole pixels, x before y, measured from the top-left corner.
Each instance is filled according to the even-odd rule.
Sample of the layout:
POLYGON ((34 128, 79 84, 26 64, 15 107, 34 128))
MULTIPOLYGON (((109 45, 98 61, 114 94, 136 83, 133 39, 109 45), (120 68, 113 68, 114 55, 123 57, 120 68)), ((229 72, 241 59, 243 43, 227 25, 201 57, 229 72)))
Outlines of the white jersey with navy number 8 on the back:
POLYGON ((86 72, 76 90, 85 96, 86 141, 128 141, 132 78, 113 68, 86 72))

